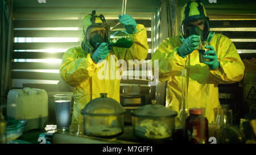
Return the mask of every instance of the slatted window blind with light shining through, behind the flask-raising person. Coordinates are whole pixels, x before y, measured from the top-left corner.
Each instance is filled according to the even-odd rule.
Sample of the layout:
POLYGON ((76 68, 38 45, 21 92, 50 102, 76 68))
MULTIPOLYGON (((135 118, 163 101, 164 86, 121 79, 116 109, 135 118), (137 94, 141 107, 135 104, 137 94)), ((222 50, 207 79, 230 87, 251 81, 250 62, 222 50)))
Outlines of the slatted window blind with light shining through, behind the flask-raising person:
MULTIPOLYGON (((151 59, 151 19, 137 18, 147 30, 148 56, 151 59)), ((106 22, 113 27, 118 19, 106 22)), ((15 19, 14 43, 11 62, 13 88, 36 87, 47 91, 72 91, 58 83, 61 57, 67 49, 81 45, 81 19, 15 19)), ((125 80, 122 83, 142 83, 144 81, 125 80)))

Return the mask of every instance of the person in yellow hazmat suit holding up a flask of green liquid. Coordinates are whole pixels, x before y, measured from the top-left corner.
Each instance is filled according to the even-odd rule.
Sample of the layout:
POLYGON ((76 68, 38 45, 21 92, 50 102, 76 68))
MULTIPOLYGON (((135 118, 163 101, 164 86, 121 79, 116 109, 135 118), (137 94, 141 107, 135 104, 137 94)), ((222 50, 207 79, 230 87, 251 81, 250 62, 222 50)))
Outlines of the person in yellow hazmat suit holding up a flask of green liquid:
MULTIPOLYGON (((68 49, 62 57, 60 76, 70 86, 75 87, 72 124, 77 123, 79 110, 90 100, 100 97, 100 93, 107 93, 108 98, 119 102, 122 64, 118 64, 118 60, 140 61, 147 57, 145 27, 137 24, 129 14, 119 15, 119 22, 128 33, 134 33, 134 43, 130 48, 110 48, 110 27, 106 24, 104 15, 98 16, 93 10, 92 14, 84 18, 81 47, 68 49), (119 70, 120 74, 116 74, 119 70)), ((79 120, 82 121, 81 118, 79 120)))

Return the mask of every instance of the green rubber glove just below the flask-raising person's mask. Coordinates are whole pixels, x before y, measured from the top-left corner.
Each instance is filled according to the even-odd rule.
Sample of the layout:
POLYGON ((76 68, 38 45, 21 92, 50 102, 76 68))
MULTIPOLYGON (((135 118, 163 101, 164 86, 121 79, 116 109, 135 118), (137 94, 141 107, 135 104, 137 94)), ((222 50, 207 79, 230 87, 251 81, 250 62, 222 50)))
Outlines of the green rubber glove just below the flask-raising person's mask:
POLYGON ((108 43, 101 43, 101 45, 93 53, 92 59, 94 62, 98 63, 98 61, 105 59, 108 55, 109 55, 108 43))

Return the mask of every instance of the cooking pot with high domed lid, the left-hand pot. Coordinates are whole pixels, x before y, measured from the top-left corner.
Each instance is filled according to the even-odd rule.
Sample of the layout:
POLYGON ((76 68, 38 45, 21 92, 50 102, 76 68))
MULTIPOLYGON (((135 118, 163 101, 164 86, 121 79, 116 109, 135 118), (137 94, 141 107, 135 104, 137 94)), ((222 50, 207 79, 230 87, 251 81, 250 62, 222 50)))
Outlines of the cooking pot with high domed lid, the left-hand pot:
POLYGON ((100 98, 91 100, 81 111, 84 134, 96 137, 115 137, 123 133, 126 110, 116 100, 101 93, 100 98))

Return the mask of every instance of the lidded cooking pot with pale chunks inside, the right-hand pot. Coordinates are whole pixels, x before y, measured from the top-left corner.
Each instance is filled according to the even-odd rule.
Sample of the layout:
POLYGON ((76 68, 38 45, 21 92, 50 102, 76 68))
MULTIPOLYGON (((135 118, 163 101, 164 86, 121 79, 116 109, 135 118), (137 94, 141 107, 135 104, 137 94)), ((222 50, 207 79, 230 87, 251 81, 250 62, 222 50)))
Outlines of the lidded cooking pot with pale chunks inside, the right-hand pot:
POLYGON ((174 135, 177 112, 159 104, 131 110, 134 135, 146 140, 164 140, 174 135))

